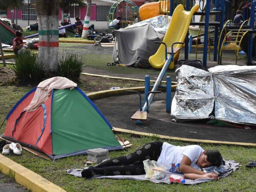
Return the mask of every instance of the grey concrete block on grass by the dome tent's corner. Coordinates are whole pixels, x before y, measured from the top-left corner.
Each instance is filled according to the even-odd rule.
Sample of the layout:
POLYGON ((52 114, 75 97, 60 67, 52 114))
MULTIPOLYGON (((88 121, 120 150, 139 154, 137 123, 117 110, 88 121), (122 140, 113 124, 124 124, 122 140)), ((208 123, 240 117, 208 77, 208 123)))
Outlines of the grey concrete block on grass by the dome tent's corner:
POLYGON ((87 161, 92 161, 92 162, 101 162, 104 159, 109 159, 109 152, 107 149, 101 149, 101 148, 97 148, 97 149, 89 149, 87 150, 87 161))

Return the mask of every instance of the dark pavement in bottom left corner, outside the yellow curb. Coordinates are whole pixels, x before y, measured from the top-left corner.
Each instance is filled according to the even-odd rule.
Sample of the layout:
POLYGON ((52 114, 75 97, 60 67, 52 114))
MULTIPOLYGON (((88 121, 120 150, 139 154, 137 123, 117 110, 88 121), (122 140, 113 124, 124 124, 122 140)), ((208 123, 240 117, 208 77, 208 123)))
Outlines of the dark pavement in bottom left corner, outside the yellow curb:
POLYGON ((24 187, 14 182, 11 178, 0 173, 0 191, 1 192, 26 192, 24 187))

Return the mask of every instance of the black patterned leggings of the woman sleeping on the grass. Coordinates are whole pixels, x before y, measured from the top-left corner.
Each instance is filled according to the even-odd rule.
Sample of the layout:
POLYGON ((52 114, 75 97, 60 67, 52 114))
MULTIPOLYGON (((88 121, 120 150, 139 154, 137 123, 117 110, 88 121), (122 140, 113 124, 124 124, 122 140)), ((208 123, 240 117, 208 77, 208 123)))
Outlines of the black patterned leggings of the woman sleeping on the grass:
POLYGON ((90 166, 82 171, 82 177, 91 178, 100 175, 142 175, 145 174, 143 161, 157 161, 162 151, 163 142, 154 141, 145 144, 135 152, 104 161, 97 166, 90 166))

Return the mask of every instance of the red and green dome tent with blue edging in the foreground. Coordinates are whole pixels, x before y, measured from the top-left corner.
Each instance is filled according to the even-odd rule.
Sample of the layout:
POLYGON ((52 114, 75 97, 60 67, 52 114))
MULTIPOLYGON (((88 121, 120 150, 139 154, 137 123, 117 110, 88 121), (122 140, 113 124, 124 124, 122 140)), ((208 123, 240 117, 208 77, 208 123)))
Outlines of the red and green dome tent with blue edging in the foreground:
POLYGON ((44 152, 52 159, 85 155, 86 150, 123 149, 112 126, 78 87, 52 90, 35 111, 24 111, 36 87, 24 95, 6 117, 2 137, 44 152))

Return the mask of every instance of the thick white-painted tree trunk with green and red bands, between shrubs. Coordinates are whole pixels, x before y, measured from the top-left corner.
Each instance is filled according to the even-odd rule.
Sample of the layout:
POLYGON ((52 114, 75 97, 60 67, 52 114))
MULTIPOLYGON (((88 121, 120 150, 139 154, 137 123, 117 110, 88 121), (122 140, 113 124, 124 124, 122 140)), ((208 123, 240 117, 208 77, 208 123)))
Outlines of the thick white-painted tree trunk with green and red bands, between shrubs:
POLYGON ((59 52, 59 0, 35 0, 38 20, 38 58, 45 62, 45 71, 56 72, 59 52))

